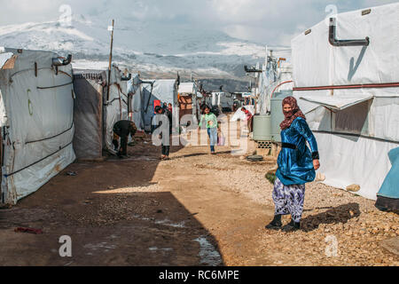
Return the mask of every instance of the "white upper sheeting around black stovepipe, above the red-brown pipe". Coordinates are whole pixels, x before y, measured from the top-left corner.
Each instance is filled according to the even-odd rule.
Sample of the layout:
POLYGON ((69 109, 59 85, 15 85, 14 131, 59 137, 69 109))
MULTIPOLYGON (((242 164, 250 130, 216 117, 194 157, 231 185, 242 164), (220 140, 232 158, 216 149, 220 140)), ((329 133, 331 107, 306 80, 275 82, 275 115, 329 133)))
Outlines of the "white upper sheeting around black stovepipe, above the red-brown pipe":
POLYGON ((293 39, 295 87, 398 82, 399 3, 372 8, 365 16, 360 10, 337 15, 338 38, 369 36, 367 47, 334 47, 328 35, 324 20, 293 39))

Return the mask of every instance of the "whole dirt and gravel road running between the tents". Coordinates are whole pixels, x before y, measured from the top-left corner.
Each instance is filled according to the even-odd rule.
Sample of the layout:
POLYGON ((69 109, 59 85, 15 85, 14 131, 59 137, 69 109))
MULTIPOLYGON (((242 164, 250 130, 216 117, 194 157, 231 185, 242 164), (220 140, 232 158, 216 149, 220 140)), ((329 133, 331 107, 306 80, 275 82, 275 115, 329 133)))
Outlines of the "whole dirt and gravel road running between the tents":
POLYGON ((399 217, 326 185, 308 185, 301 232, 266 231, 275 161, 217 151, 173 147, 160 162, 145 138, 129 160, 70 165, 0 210, 0 265, 399 265, 383 242, 395 243, 399 217), (72 257, 60 256, 61 236, 72 257))

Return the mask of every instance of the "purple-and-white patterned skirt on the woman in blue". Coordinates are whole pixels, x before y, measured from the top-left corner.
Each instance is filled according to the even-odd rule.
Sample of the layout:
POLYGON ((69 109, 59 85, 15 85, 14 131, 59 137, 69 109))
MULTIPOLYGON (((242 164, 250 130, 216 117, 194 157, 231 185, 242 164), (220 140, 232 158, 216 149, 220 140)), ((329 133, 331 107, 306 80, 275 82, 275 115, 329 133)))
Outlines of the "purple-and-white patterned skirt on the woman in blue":
POLYGON ((283 185, 277 177, 274 184, 273 201, 276 206, 276 215, 291 214, 293 221, 299 223, 305 201, 305 185, 283 185))

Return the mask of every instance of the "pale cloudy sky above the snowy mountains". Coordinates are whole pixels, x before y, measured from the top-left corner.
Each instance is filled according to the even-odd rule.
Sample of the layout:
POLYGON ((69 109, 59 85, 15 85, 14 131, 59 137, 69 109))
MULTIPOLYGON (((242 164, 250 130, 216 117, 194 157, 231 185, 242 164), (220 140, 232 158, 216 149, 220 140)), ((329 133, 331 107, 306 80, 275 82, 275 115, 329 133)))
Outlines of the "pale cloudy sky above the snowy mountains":
POLYGON ((152 21, 176 28, 217 29, 256 43, 289 45, 291 38, 325 19, 328 5, 348 12, 392 0, 0 0, 0 25, 57 20, 59 7, 108 21, 152 21))

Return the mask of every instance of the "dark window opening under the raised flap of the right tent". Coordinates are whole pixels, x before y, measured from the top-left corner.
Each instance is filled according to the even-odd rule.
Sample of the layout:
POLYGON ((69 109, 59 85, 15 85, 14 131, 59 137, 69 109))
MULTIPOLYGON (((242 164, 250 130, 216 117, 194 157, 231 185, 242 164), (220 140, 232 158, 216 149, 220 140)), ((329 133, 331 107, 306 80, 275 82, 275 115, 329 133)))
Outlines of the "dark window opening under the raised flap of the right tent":
POLYGON ((342 133, 369 135, 370 101, 332 113, 332 130, 342 133))

